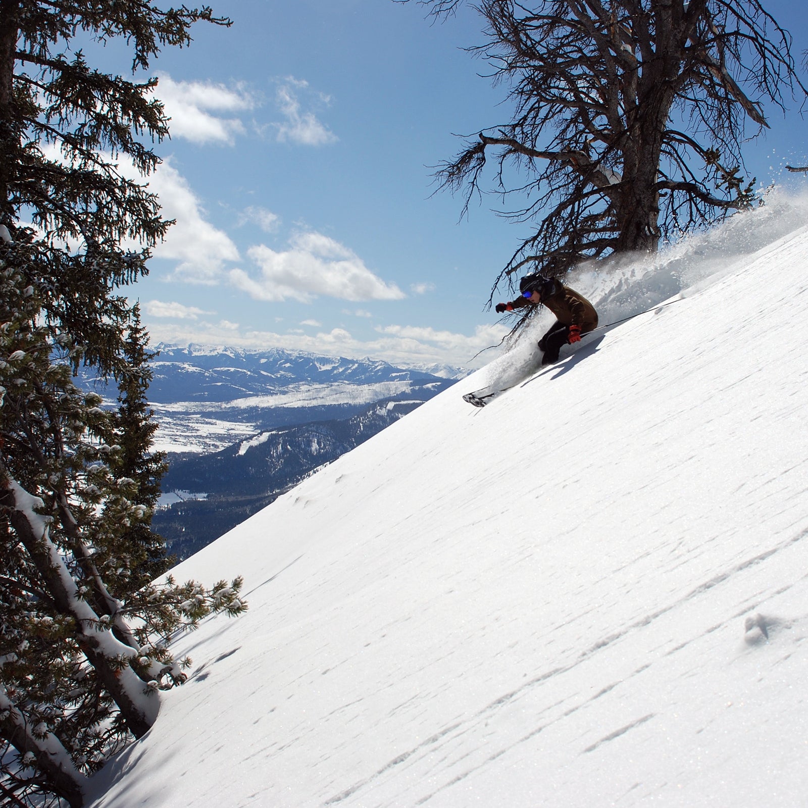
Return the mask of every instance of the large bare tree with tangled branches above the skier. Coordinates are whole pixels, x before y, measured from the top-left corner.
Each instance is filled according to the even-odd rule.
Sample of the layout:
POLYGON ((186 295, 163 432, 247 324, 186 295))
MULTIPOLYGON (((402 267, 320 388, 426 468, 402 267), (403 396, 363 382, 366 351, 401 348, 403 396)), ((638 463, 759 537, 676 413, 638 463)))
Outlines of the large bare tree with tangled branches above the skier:
MULTIPOLYGON (((434 15, 464 0, 425 0, 434 15)), ((507 86, 507 124, 440 166, 441 187, 482 193, 489 158, 503 215, 536 222, 494 288, 525 264, 559 276, 583 259, 654 251, 754 200, 741 144, 806 93, 791 37, 760 0, 481 0, 469 48, 507 86), (513 170, 516 168, 516 171, 513 170)))

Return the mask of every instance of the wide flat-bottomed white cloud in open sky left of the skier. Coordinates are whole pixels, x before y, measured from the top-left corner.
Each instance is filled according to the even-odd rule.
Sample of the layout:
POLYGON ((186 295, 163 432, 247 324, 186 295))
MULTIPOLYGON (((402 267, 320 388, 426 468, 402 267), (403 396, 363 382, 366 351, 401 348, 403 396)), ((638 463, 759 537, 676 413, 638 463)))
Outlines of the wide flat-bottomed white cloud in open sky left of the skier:
POLYGON ((347 301, 401 300, 395 284, 385 284, 365 267, 352 250, 319 233, 297 234, 283 252, 250 247, 250 258, 260 267, 256 280, 242 269, 230 271, 230 281, 250 297, 262 301, 310 301, 338 297, 347 301))

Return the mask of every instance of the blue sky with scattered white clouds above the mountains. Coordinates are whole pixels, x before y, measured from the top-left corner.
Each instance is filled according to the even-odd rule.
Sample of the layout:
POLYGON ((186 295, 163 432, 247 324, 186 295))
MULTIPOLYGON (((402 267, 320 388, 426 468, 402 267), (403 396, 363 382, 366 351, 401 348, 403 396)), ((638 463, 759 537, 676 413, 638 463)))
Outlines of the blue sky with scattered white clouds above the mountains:
MULTIPOLYGON (((808 49, 802 3, 766 3, 808 49)), ((507 118, 503 88, 462 48, 471 9, 431 23, 415 2, 227 0, 229 28, 198 25, 154 61, 172 118, 152 185, 177 219, 130 288, 152 342, 284 347, 393 364, 468 364, 507 330, 485 304, 527 225, 458 221, 432 169, 507 118)), ((123 73, 122 46, 97 53, 123 73)), ((768 110, 747 149, 761 184, 808 162, 806 125, 768 110)), ((507 298, 507 293, 499 297, 507 298)), ((488 355, 490 358, 490 354, 488 355)), ((479 364, 479 360, 477 363, 479 364)))

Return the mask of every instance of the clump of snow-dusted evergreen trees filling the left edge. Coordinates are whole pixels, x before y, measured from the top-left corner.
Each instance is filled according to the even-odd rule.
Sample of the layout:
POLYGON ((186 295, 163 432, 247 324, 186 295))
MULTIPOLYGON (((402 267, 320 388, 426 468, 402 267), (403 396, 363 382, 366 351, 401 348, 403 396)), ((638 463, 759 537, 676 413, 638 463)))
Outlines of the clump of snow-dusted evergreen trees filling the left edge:
POLYGON ((85 778, 185 679, 172 633, 242 612, 240 579, 167 578, 149 528, 162 457, 145 401, 147 340, 117 290, 166 233, 145 180, 167 134, 154 80, 90 68, 76 36, 133 47, 146 69, 208 8, 0 0, 0 794, 82 805, 85 778), (23 225, 32 222, 31 226, 23 225), (143 245, 127 251, 124 239, 143 245), (74 384, 89 364, 117 411, 74 384))

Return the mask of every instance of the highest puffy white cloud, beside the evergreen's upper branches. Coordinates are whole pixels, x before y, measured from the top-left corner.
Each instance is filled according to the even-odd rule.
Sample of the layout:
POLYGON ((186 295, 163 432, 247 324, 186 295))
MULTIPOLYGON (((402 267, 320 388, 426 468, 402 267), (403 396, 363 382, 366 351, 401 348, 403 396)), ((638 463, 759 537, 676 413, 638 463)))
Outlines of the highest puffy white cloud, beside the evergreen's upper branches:
POLYGON ((255 107, 255 99, 243 86, 175 82, 167 74, 159 77, 154 95, 162 101, 171 119, 171 137, 184 137, 200 144, 233 145, 235 136, 244 133, 244 124, 238 117, 221 117, 221 114, 247 112, 255 107))

